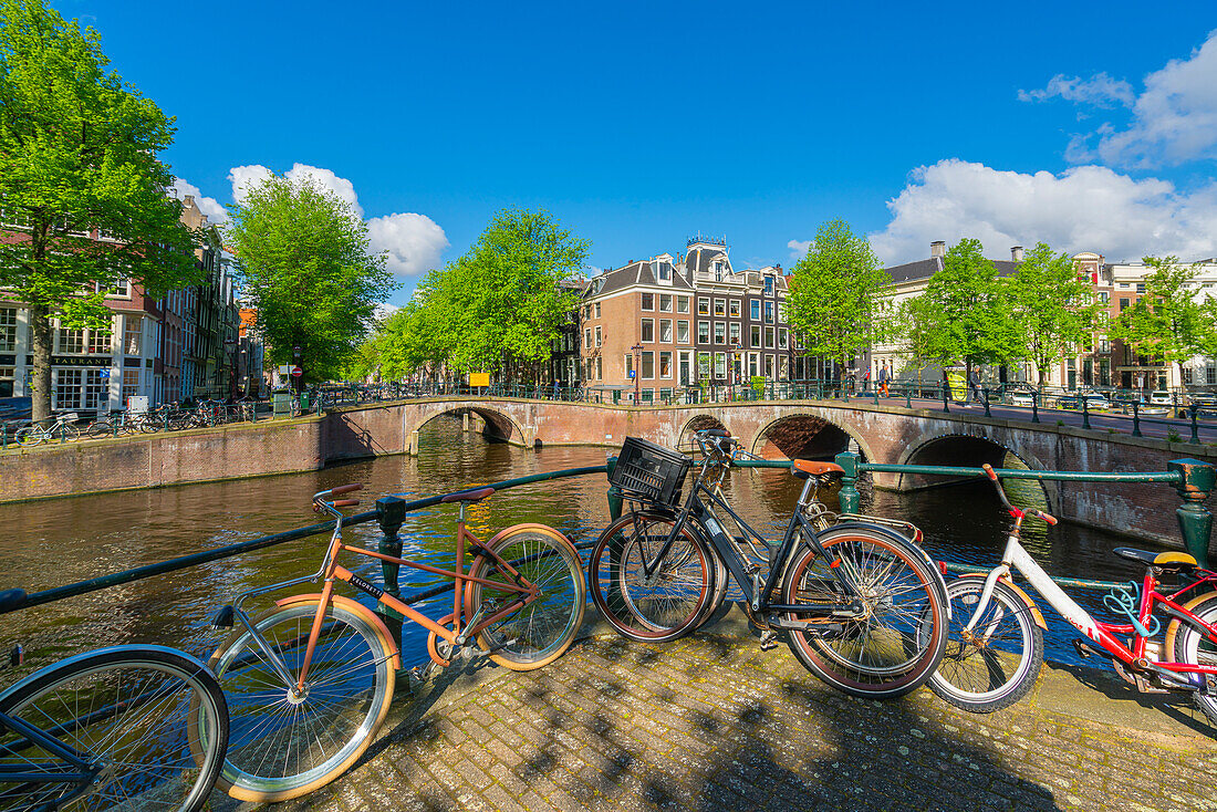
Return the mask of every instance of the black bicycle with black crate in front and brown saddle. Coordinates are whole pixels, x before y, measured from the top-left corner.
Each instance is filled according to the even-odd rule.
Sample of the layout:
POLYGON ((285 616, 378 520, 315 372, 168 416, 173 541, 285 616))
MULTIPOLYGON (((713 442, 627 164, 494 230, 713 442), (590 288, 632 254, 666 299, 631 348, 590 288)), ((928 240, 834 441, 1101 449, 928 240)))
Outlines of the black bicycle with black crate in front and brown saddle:
POLYGON ((632 509, 605 528, 588 564, 605 620, 633 640, 679 638, 714 615, 730 577, 762 645, 785 633, 800 662, 830 685, 899 696, 929 679, 949 609, 942 575, 915 543, 920 531, 830 513, 817 495, 841 466, 793 460, 803 491, 781 541, 770 542, 723 494, 742 449, 723 430, 694 439, 702 459, 683 504, 690 458, 636 437, 622 447, 608 480, 632 509))

